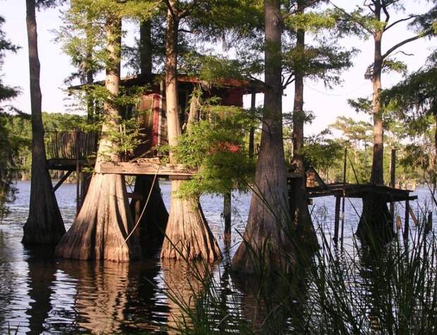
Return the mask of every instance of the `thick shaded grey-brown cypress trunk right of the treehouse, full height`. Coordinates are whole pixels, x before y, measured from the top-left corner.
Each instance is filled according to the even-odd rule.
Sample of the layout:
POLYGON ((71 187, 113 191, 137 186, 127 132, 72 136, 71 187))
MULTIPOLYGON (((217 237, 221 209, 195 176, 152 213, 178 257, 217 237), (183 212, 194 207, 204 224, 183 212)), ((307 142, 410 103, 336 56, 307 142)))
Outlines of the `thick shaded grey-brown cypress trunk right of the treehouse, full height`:
POLYGON ((265 0, 264 13, 266 89, 261 146, 255 172, 256 192, 250 202, 243 241, 232 260, 233 270, 247 273, 253 273, 257 266, 285 270, 288 266, 285 255, 293 254, 282 137, 282 18, 279 1, 265 0), (261 262, 261 265, 256 262, 261 262))

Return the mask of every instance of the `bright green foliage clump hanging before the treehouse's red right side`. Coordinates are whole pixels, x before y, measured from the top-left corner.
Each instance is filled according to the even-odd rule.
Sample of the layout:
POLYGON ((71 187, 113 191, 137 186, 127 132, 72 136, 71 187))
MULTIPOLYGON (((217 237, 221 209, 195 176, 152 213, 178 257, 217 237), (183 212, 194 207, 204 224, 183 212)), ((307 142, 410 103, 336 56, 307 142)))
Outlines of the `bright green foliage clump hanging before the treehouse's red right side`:
POLYGON ((178 163, 197 169, 195 177, 181 186, 180 196, 246 191, 254 175, 254 162, 243 145, 245 131, 253 122, 250 113, 211 106, 208 119, 190 125, 178 146, 171 148, 178 163))

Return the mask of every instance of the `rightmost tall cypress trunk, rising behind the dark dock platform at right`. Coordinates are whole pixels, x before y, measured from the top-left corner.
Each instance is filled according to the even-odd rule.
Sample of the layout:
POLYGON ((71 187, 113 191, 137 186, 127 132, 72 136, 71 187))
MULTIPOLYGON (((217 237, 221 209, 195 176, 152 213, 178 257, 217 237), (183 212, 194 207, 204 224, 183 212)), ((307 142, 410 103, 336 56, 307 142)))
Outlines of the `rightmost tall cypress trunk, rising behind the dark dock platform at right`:
MULTIPOLYGON (((376 8, 381 11, 381 8, 376 8)), ((371 165, 370 182, 384 184, 383 172, 383 118, 381 106, 381 72, 383 57, 381 53, 382 32, 374 33, 374 70, 371 78, 372 115, 374 118, 374 157, 371 165)), ((395 232, 386 202, 377 194, 367 194, 363 198, 363 210, 357 227, 357 236, 364 243, 379 244, 390 241, 395 232)))

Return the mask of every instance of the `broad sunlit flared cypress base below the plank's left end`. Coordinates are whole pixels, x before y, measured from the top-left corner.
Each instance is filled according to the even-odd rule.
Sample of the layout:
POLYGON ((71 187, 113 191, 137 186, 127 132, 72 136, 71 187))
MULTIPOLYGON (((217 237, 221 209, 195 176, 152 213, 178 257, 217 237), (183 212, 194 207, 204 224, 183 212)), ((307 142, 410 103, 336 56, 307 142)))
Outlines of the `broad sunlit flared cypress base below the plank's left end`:
POLYGON ((85 202, 73 225, 56 246, 56 256, 78 260, 125 262, 139 258, 140 244, 132 234, 133 220, 121 175, 94 174, 85 202))

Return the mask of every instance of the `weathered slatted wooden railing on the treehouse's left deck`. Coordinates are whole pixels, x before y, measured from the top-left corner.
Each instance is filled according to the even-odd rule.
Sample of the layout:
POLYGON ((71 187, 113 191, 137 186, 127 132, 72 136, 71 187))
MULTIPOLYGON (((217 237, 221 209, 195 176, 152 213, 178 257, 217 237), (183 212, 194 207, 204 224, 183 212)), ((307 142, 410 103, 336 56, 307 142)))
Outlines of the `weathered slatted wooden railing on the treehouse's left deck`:
POLYGON ((47 158, 85 159, 95 156, 99 134, 97 132, 46 132, 47 158))

